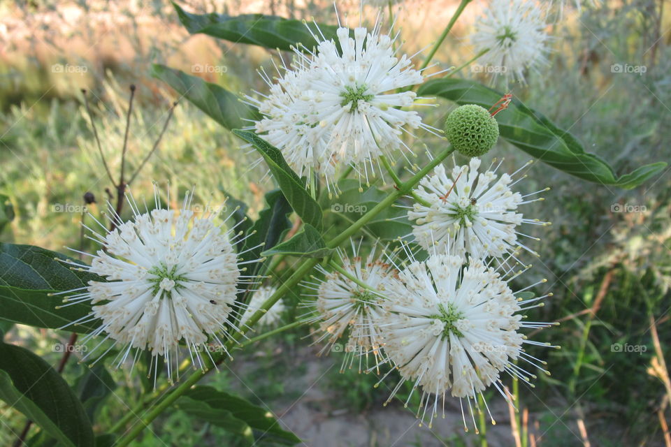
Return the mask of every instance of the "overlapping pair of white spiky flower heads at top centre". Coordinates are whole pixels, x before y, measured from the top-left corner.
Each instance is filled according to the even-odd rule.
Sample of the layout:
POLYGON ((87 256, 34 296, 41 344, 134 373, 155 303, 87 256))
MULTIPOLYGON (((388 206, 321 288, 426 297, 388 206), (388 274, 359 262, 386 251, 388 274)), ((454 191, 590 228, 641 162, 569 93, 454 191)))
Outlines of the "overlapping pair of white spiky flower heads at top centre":
POLYGON ((426 128, 417 112, 403 110, 417 95, 396 91, 424 80, 410 58, 397 57, 394 38, 377 26, 353 34, 341 27, 337 43, 319 41, 314 54, 296 50, 277 84, 265 77, 270 94, 247 98, 264 115, 257 133, 282 150, 298 175, 320 173, 331 182, 350 163, 368 175, 373 160, 404 145, 404 131, 426 128))

